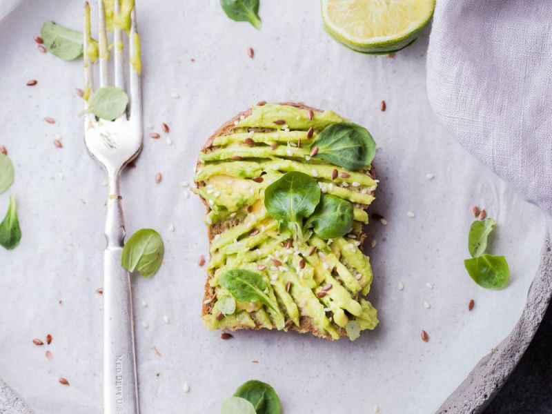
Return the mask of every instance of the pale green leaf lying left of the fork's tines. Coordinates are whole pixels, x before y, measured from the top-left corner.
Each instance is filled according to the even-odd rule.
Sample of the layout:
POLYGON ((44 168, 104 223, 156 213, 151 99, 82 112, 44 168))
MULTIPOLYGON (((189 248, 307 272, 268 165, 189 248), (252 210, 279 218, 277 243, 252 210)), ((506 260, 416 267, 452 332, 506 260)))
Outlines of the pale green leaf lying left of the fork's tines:
POLYGON ((53 21, 47 21, 40 30, 40 37, 42 37, 48 52, 60 59, 72 61, 82 55, 82 32, 64 28, 53 21))

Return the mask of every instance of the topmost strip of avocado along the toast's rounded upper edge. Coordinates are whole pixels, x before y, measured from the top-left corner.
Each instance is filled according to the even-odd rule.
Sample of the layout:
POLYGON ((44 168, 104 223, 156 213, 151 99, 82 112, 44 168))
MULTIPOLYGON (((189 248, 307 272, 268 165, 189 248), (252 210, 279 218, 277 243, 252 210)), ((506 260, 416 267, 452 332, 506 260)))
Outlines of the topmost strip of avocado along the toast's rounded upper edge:
POLYGON ((239 128, 283 129, 282 125, 275 124, 274 121, 284 120, 290 129, 308 130, 312 126, 315 130, 323 130, 328 125, 346 121, 346 119, 339 117, 339 115, 331 110, 313 112, 313 115, 313 120, 311 121, 308 117, 308 110, 295 108, 294 106, 267 103, 263 106, 253 106, 251 108, 251 115, 239 121, 237 126, 239 128))

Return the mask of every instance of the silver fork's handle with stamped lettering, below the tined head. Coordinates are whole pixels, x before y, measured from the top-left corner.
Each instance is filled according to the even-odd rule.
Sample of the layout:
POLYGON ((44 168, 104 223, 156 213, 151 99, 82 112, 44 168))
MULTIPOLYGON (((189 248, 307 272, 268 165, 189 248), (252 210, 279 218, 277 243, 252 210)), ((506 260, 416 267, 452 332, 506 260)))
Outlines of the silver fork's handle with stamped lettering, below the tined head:
POLYGON ((125 236, 118 177, 110 180, 103 253, 103 413, 138 414, 130 275, 121 266, 125 236))

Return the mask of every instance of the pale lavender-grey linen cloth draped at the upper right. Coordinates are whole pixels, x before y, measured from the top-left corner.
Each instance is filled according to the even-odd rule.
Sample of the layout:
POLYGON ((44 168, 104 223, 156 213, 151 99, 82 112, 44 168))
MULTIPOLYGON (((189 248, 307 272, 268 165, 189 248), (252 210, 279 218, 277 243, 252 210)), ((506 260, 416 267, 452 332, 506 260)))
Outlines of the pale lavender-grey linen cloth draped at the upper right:
POLYGON ((552 217, 552 1, 437 1, 427 90, 442 124, 552 217))

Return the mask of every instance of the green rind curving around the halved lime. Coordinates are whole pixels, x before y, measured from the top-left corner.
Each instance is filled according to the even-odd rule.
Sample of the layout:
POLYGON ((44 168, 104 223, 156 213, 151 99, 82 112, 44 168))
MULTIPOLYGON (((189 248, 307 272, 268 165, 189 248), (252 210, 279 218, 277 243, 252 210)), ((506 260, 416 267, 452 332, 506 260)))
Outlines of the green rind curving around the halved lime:
POLYGON ((332 25, 327 23, 326 13, 324 12, 324 0, 321 1, 322 5, 322 20, 324 21, 324 30, 330 34, 330 36, 342 43, 344 46, 354 50, 355 52, 361 52, 368 55, 386 55, 388 53, 398 52, 408 46, 410 46, 420 35, 422 30, 426 28, 428 23, 433 17, 433 11, 435 10, 435 0, 432 1, 431 12, 429 12, 426 18, 417 23, 417 25, 408 32, 400 34, 399 37, 388 36, 387 39, 370 41, 366 43, 359 43, 345 37, 339 30, 336 30, 332 25))

